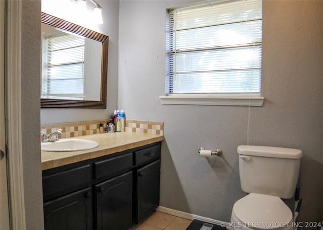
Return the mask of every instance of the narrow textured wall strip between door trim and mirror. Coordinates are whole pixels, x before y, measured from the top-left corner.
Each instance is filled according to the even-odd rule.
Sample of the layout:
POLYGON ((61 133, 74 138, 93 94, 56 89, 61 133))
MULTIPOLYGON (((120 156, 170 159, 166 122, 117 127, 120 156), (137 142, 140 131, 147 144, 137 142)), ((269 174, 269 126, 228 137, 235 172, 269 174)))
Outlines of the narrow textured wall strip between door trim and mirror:
POLYGON ((21 124, 26 229, 43 229, 40 165, 40 1, 22 1, 21 124))

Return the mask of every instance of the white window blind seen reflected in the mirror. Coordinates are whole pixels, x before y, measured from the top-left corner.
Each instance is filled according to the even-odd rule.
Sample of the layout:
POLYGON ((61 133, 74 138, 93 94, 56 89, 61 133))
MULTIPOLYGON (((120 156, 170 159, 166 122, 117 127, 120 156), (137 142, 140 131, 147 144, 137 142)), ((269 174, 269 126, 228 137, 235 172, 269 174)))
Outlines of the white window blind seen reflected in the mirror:
POLYGON ((48 36, 43 60, 42 98, 80 99, 84 93, 84 44, 82 36, 48 36))

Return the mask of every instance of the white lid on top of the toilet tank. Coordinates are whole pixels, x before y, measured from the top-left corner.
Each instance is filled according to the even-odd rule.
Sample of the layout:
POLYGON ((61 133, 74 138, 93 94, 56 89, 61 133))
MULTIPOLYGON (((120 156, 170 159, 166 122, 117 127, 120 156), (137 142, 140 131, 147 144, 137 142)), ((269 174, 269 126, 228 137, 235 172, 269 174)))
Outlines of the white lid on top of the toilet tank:
POLYGON ((239 145, 237 151, 241 155, 259 156, 267 158, 300 159, 302 157, 302 151, 295 148, 239 145))

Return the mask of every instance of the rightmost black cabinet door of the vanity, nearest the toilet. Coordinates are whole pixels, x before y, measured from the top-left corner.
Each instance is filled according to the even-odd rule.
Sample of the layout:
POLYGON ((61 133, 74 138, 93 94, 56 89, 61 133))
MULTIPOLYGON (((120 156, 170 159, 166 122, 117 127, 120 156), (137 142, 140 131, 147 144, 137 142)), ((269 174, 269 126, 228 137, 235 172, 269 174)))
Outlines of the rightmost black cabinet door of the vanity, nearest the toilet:
POLYGON ((160 160, 137 170, 137 223, 159 205, 159 176, 160 160))

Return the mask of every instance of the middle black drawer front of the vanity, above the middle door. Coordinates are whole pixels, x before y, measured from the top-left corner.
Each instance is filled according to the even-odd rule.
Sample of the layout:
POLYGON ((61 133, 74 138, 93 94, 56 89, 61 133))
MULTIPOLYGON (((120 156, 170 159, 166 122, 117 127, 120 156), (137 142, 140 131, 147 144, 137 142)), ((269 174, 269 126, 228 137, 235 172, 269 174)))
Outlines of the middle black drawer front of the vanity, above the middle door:
POLYGON ((132 167, 132 153, 94 163, 95 179, 132 167))

